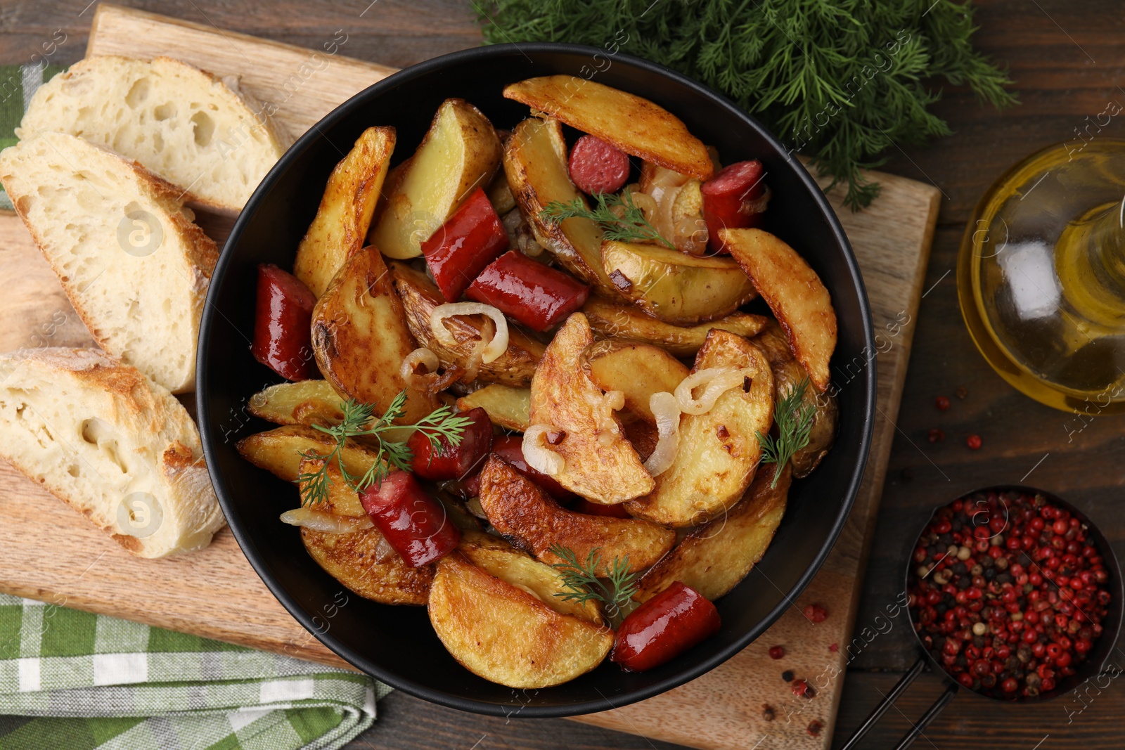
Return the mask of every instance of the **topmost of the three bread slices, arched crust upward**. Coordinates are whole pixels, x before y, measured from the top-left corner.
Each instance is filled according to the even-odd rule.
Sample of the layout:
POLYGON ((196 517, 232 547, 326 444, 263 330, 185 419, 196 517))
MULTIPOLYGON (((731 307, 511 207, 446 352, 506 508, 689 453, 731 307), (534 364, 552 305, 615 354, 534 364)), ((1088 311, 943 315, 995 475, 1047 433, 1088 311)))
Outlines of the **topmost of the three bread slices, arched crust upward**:
POLYGON ((134 159, 187 191, 238 211, 289 145, 237 79, 218 80, 171 57, 79 61, 39 88, 19 138, 69 133, 134 159))

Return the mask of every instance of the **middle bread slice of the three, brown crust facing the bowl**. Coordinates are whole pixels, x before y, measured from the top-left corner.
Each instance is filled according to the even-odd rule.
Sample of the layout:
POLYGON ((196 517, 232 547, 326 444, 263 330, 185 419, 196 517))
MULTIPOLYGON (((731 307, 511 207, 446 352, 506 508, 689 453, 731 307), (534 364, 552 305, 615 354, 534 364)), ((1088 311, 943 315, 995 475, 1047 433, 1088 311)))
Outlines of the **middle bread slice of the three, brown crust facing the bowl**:
POLYGON ((93 340, 172 392, 192 390, 218 253, 176 188, 62 133, 0 152, 0 181, 93 340))

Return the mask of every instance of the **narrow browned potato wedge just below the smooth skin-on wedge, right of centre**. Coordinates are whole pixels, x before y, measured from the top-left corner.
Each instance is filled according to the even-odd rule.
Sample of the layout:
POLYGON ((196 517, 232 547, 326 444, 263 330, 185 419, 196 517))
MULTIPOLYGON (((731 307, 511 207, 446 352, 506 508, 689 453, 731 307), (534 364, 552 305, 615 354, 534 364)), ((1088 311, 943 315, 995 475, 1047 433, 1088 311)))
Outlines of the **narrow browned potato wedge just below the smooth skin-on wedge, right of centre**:
POLYGON ((760 315, 731 313, 712 323, 676 326, 646 315, 634 305, 610 301, 591 295, 582 311, 600 336, 631 338, 655 344, 676 356, 695 356, 712 328, 729 331, 739 336, 754 336, 766 324, 760 315))

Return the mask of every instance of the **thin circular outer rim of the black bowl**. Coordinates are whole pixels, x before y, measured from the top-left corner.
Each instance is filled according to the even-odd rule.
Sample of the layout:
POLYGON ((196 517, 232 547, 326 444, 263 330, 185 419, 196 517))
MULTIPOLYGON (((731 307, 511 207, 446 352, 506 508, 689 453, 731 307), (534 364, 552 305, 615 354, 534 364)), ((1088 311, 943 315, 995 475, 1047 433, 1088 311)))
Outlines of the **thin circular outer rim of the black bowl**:
MULTIPOLYGON (((218 289, 222 286, 219 282, 227 272, 228 266, 232 263, 232 259, 235 253, 230 252, 237 246, 238 240, 245 226, 250 223, 251 217, 256 211, 259 204, 263 201, 264 195, 268 189, 273 184, 273 182, 279 179, 278 175, 284 172, 289 164, 297 161, 304 152, 318 138, 325 138, 323 133, 332 127, 338 120, 346 117, 356 107, 361 106, 369 99, 377 98, 386 91, 390 91, 402 85, 406 85, 418 76, 426 75, 431 72, 444 69, 452 65, 464 65, 471 64, 477 60, 489 57, 489 56, 504 56, 512 53, 518 53, 523 56, 529 56, 537 52, 541 53, 577 53, 583 55, 594 55, 601 54, 604 56, 604 51, 598 47, 579 45, 579 44, 567 44, 558 42, 536 42, 536 43, 519 43, 519 44, 497 44, 497 45, 485 45, 479 47, 470 47, 468 49, 461 49, 458 52, 452 52, 438 57, 432 57, 430 60, 423 61, 415 65, 404 67, 403 70, 388 75, 387 78, 377 81, 357 92, 346 101, 342 102, 335 107, 332 111, 321 118, 314 126, 312 126, 306 133, 304 133, 299 138, 297 138, 294 144, 286 151, 286 153, 278 160, 278 162, 270 169, 267 175, 259 183, 254 193, 251 196, 250 200, 243 207, 242 213, 238 215, 234 227, 227 237, 226 244, 219 254, 218 262, 215 265, 215 270, 212 273, 210 284, 207 291, 207 299, 204 305, 202 318, 200 322, 199 341, 197 346, 197 362, 196 362, 196 406, 198 414, 199 431, 202 439, 204 457, 207 462, 207 470, 212 479, 212 484, 215 488, 215 494, 218 497, 219 505, 223 508, 224 515, 228 518, 235 515, 234 508, 236 504, 233 498, 228 495, 225 481, 222 473, 215 467, 218 467, 218 441, 217 436, 210 430, 210 408, 207 401, 207 394, 209 390, 209 378, 208 378, 208 367, 210 364, 207 352, 209 350, 210 336, 214 331, 215 322, 217 317, 223 314, 218 310, 216 306, 215 298, 218 295, 218 289)), ((638 57, 636 55, 630 55, 624 52, 618 52, 613 55, 614 62, 620 62, 633 66, 634 69, 641 69, 666 79, 672 79, 676 83, 686 87, 692 90, 698 96, 711 100, 716 107, 724 108, 735 117, 742 120, 747 128, 756 130, 762 137, 764 137, 774 148, 776 148, 778 154, 784 154, 785 161, 789 163, 790 168, 794 170, 795 175, 804 184, 808 190, 812 201, 819 207, 821 216, 828 223, 829 231, 836 241, 837 247, 843 252, 845 265, 848 271, 848 282, 858 292, 858 306, 860 316, 863 323, 863 344, 864 352, 871 353, 875 351, 873 341, 874 332, 872 325, 871 315, 871 304, 867 298, 866 286, 864 284, 863 275, 860 272, 858 262, 855 259, 855 254, 852 251, 852 245, 848 242, 847 235, 844 233, 844 228, 840 226, 839 219, 836 217, 836 213, 829 206, 827 198, 820 190, 819 186, 809 174, 808 170, 801 162, 794 157, 793 151, 786 148, 782 142, 773 135, 764 125, 758 123, 753 116, 747 114, 745 110, 737 107, 730 99, 723 94, 713 91, 712 89, 699 83, 698 81, 683 75, 672 69, 665 67, 659 63, 646 60, 644 57, 638 57)), ((872 434, 874 431, 874 417, 875 417, 875 391, 878 381, 878 368, 874 355, 866 356, 866 364, 870 368, 871 374, 863 383, 863 390, 861 394, 861 399, 864 405, 864 424, 861 427, 860 436, 860 457, 856 461, 855 467, 853 467, 848 481, 844 490, 844 503, 842 503, 839 510, 837 512, 836 518, 832 522, 831 528, 829 530, 828 536, 821 545, 820 551, 813 558, 812 563, 806 569, 801 577, 796 580, 793 587, 784 593, 782 600, 770 611, 770 613, 758 622, 758 624, 749 629, 740 638, 734 641, 728 647, 716 652, 706 659, 699 661, 686 662, 684 667, 676 674, 654 683, 651 685, 637 688, 630 693, 620 694, 614 696, 614 699, 606 697, 601 690, 597 690, 600 697, 590 701, 559 704, 559 705, 531 705, 524 704, 519 701, 513 701, 511 704, 503 703, 489 703, 484 701, 476 701, 469 697, 464 697, 459 695, 452 695, 449 693, 442 693, 434 690, 425 685, 420 685, 410 678, 402 677, 397 674, 389 672, 378 665, 371 663, 368 659, 360 656, 346 644, 340 642, 334 635, 330 633, 320 632, 313 623, 313 617, 307 614, 304 608, 297 603, 295 597, 292 597, 285 586, 274 579, 274 577, 266 569, 264 563, 259 560, 258 551, 250 539, 245 530, 243 530, 238 524, 231 523, 230 519, 227 525, 231 528, 235 541, 238 543, 238 548, 242 550, 243 554, 246 557, 254 572, 258 573, 262 582, 266 584, 270 593, 281 603, 281 605, 289 612, 289 614, 300 623, 306 631, 308 631, 313 636, 315 636, 321 643, 327 647, 336 656, 343 658, 345 661, 351 663, 353 667, 359 669, 380 681, 390 685, 396 689, 400 689, 404 693, 413 695, 415 697, 435 703, 439 705, 448 706, 451 708, 457 708, 460 711, 490 715, 490 716, 520 716, 525 719, 548 719, 548 717, 562 717, 562 716, 574 716, 580 714, 590 714, 601 711, 606 711, 611 708, 619 708, 624 705, 629 705, 646 698, 650 698, 655 695, 666 693, 675 687, 678 687, 696 677, 700 677, 719 665, 723 663, 736 653, 745 649, 750 642, 756 640, 762 633, 764 633, 777 618, 784 613, 790 606, 795 606, 794 600, 804 588, 812 580, 813 576, 819 572, 821 566, 824 566, 825 560, 828 558, 829 552, 836 545, 839 534, 844 528, 844 524, 847 522, 848 515, 852 512, 852 507, 855 504, 855 498, 858 495, 860 486, 863 481, 863 476, 867 467, 867 459, 871 451, 872 434), (514 707, 514 710, 513 710, 514 707)), ((855 381, 852 381, 855 385, 855 381)))

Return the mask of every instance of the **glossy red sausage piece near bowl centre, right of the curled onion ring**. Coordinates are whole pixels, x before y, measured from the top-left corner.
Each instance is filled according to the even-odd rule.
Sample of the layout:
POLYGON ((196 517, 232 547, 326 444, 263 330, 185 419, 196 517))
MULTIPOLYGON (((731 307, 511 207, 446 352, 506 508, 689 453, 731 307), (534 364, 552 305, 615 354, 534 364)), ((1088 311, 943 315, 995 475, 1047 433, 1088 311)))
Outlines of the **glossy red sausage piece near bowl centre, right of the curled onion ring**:
POLYGON ((466 296, 529 328, 547 331, 586 302, 590 287, 510 250, 480 272, 466 296))

